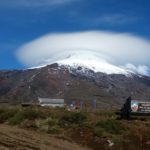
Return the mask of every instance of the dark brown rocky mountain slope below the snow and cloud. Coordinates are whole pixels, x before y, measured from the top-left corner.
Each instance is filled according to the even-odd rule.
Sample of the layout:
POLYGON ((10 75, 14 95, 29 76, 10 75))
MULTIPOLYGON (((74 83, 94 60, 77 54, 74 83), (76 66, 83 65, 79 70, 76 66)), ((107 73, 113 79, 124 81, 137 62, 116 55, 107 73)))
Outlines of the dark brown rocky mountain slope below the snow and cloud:
POLYGON ((119 106, 128 97, 149 100, 150 78, 105 74, 84 67, 52 64, 29 70, 0 71, 0 102, 37 102, 38 97, 97 99, 99 107, 119 106))

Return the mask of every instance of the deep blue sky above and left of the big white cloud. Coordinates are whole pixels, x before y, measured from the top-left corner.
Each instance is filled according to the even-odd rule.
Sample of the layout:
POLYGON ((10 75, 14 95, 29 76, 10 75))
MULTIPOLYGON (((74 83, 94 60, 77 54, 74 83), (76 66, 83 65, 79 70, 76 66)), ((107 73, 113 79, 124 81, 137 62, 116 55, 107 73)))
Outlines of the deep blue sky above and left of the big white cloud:
POLYGON ((149 7, 149 0, 1 0, 0 69, 24 68, 16 50, 48 33, 101 30, 149 40, 149 7))

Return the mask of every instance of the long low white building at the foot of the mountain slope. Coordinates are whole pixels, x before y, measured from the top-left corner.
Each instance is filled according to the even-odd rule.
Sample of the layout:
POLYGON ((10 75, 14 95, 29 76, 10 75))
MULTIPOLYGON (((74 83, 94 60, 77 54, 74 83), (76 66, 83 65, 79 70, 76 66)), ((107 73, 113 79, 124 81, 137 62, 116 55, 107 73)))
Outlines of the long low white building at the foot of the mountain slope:
POLYGON ((40 106, 64 107, 64 99, 38 98, 40 106))

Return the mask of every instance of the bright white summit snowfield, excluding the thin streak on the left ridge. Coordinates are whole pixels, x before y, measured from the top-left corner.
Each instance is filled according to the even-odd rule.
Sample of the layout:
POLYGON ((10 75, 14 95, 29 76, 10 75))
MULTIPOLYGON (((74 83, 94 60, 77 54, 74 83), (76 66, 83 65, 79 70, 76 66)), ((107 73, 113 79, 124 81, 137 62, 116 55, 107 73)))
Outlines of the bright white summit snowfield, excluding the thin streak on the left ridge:
POLYGON ((107 63, 105 60, 97 59, 94 56, 82 57, 81 55, 70 56, 67 59, 57 61, 59 65, 68 65, 73 68, 85 67, 94 72, 103 72, 106 74, 129 74, 125 69, 107 63))

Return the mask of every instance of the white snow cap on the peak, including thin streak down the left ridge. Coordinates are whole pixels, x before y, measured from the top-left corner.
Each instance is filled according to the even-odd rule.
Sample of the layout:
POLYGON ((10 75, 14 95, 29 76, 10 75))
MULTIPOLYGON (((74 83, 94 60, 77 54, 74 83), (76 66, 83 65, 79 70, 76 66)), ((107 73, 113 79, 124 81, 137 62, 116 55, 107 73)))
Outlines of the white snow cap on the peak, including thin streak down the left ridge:
POLYGON ((129 70, 108 63, 105 60, 105 58, 100 57, 100 55, 97 56, 94 53, 86 53, 86 52, 83 53, 80 52, 79 54, 77 52, 74 52, 66 56, 65 58, 58 59, 55 62, 45 60, 45 64, 32 67, 30 69, 45 67, 53 63, 58 63, 59 66, 63 65, 73 69, 82 67, 93 70, 94 72, 102 72, 106 74, 123 74, 126 76, 129 76, 131 74, 131 71, 129 70))

